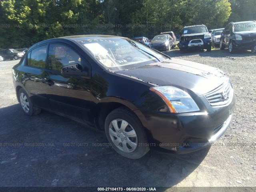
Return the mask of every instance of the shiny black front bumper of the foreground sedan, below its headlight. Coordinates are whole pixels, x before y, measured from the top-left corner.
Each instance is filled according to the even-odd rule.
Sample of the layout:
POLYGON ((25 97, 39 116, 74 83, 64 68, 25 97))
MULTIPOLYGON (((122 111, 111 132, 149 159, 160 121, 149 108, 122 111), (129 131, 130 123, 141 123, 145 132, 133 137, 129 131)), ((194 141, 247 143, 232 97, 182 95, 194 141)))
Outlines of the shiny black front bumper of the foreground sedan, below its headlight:
POLYGON ((194 100, 201 100, 199 106, 205 112, 144 113, 150 124, 148 141, 152 149, 177 154, 194 152, 214 143, 226 132, 232 121, 235 95, 224 106, 209 106, 204 96, 194 100))

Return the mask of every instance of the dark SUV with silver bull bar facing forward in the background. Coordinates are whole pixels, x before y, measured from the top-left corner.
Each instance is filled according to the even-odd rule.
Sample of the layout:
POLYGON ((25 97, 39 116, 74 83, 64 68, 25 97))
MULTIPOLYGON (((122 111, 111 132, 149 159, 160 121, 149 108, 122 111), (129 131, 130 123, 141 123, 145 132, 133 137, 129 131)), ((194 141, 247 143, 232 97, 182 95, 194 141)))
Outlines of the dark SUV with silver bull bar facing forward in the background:
POLYGON ((205 25, 186 26, 181 31, 180 52, 190 49, 212 50, 212 36, 205 25))

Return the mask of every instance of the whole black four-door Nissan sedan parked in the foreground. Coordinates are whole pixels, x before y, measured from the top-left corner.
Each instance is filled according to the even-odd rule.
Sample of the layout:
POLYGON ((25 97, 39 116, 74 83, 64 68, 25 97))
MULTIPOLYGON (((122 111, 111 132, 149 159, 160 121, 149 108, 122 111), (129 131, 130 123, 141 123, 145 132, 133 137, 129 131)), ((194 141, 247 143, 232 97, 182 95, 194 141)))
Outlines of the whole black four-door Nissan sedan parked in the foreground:
POLYGON ((235 106, 221 70, 117 36, 44 40, 12 74, 26 115, 44 109, 104 130, 114 150, 132 159, 150 148, 184 154, 210 145, 235 106))

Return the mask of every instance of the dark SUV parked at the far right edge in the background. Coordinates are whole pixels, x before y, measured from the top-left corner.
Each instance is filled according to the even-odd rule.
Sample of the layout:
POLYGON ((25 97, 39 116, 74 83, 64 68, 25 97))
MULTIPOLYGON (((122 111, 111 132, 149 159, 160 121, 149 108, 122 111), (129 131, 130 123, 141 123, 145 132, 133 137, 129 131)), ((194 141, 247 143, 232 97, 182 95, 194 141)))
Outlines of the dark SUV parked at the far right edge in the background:
POLYGON ((236 50, 252 50, 256 47, 256 21, 229 23, 220 36, 220 49, 228 46, 230 53, 236 50))

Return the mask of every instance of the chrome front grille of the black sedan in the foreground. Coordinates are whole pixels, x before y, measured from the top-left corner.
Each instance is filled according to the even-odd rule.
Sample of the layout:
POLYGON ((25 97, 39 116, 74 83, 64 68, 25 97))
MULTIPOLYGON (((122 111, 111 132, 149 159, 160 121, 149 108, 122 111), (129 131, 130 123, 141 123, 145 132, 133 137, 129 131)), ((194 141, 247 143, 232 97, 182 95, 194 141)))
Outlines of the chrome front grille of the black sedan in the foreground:
POLYGON ((233 88, 230 81, 224 82, 218 88, 205 94, 205 98, 208 100, 211 106, 225 105, 229 102, 233 95, 233 88))

